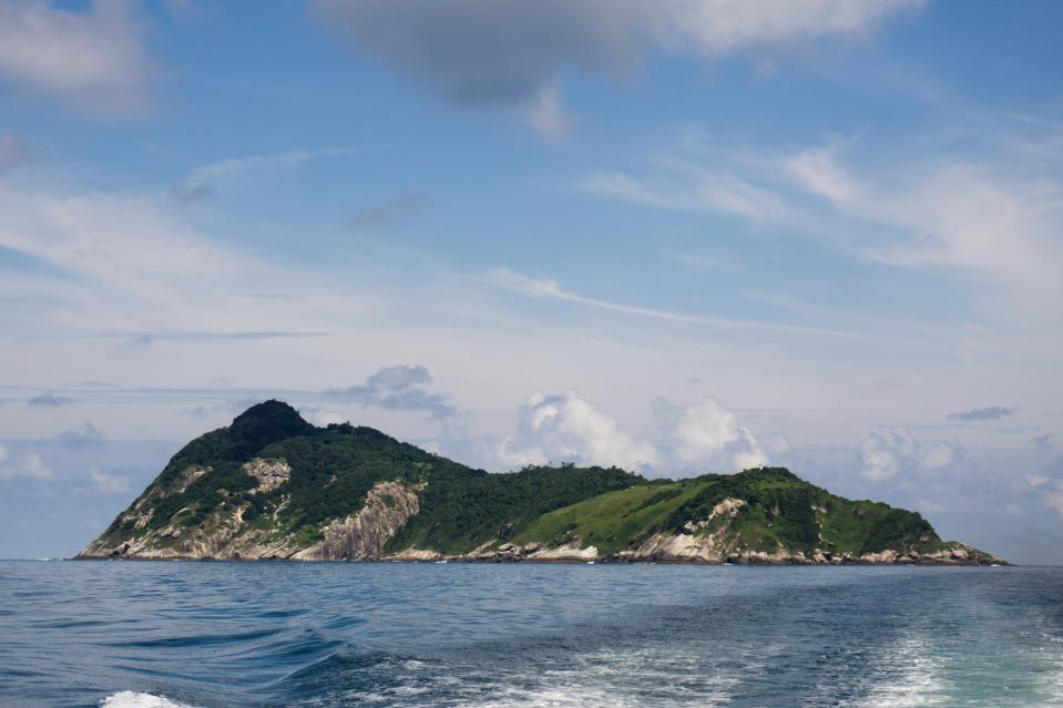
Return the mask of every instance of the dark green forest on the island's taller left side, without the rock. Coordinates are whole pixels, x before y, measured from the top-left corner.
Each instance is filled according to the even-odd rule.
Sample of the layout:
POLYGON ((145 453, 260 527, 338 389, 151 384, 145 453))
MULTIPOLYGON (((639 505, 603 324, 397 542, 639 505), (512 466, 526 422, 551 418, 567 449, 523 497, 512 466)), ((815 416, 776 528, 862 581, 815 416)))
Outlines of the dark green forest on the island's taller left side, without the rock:
MULTIPOLYGON (((246 506, 244 520, 254 523, 284 503, 278 531, 314 541, 329 521, 358 512, 367 492, 380 481, 426 483, 421 512, 392 538, 391 547, 430 542, 454 552, 505 536, 544 512, 646 483, 615 468, 529 468, 490 474, 371 428, 348 423, 316 428, 290 406, 266 401, 228 428, 185 445, 136 502, 152 496, 154 513, 142 533, 166 526, 175 514, 183 526, 195 526, 216 510, 237 506, 246 506), (269 492, 249 493, 257 483, 242 468, 253 458, 285 460, 292 468, 289 482, 269 492), (176 491, 190 468, 211 471, 176 491), (159 490, 167 493, 153 494, 159 490)), ((106 534, 133 531, 132 520, 123 525, 123 516, 106 534)))

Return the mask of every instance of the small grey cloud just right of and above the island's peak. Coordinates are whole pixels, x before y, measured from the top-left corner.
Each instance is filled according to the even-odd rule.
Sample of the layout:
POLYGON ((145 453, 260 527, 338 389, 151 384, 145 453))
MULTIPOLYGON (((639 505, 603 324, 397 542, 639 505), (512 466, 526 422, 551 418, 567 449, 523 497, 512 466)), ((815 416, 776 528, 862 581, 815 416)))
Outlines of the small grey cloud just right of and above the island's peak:
POLYGON ((330 389, 325 396, 392 410, 427 411, 429 419, 442 420, 457 414, 450 397, 429 390, 432 376, 422 366, 393 366, 380 369, 359 386, 330 389))

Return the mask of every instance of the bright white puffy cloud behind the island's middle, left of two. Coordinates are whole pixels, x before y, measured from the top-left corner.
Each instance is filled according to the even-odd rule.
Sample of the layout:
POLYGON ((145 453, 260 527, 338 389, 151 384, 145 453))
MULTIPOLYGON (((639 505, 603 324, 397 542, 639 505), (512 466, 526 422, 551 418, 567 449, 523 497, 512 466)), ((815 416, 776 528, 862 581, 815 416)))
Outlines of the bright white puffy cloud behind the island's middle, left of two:
POLYGON ((520 407, 517 434, 495 452, 509 468, 575 462, 640 470, 658 462, 652 444, 634 440, 575 391, 530 396, 520 407))

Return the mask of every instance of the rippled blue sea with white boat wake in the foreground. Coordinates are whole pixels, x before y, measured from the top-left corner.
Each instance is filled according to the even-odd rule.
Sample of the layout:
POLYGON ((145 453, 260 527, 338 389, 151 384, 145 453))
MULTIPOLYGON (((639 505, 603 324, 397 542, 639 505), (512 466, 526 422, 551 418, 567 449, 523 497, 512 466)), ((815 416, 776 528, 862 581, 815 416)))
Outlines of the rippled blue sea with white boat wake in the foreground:
POLYGON ((0 562, 0 705, 1063 706, 1063 568, 0 562))

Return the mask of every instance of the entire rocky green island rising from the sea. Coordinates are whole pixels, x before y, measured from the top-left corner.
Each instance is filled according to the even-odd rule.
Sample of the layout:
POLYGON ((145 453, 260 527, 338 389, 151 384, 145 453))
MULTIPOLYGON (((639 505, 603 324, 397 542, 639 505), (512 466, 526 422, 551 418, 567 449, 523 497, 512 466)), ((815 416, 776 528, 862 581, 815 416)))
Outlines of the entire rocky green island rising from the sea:
POLYGON ((784 468, 491 473, 282 401, 196 438, 78 558, 1004 565, 784 468))

